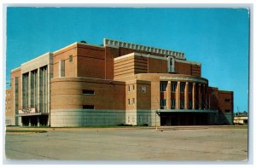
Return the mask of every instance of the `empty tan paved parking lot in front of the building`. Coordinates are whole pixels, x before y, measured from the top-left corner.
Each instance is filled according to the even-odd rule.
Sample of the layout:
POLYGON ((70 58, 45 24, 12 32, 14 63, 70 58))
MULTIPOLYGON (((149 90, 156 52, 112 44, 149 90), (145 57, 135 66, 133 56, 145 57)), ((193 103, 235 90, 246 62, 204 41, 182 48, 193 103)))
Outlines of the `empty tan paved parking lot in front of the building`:
POLYGON ((7 160, 247 160, 247 127, 44 130, 47 132, 7 133, 7 160))

